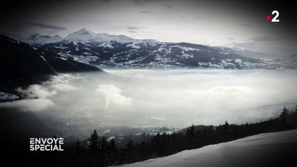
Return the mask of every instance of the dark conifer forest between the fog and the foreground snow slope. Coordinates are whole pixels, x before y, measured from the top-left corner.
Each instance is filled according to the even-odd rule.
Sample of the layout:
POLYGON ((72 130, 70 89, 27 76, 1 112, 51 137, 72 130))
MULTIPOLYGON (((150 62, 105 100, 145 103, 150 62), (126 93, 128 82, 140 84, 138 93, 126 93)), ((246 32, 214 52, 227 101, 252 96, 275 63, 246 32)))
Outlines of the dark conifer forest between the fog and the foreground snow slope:
POLYGON ((245 124, 230 124, 225 121, 225 124, 219 126, 192 125, 176 133, 157 133, 153 137, 147 136, 147 139, 141 142, 129 140, 124 146, 117 146, 115 140, 108 142, 104 136, 99 136, 94 130, 88 140, 65 143, 63 146, 65 151, 37 151, 28 153, 28 156, 34 155, 34 164, 39 162, 39 165, 43 166, 115 166, 164 157, 180 151, 228 142, 259 133, 290 129, 297 129, 297 106, 293 111, 284 107, 278 118, 270 120, 245 124))

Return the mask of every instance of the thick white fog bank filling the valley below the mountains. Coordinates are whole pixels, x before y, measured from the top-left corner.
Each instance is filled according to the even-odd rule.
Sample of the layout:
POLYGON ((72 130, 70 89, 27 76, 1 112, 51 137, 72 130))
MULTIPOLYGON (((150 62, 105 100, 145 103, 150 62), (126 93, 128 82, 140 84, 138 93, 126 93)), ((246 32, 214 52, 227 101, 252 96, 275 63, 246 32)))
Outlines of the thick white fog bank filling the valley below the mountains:
POLYGON ((170 126, 267 120, 297 102, 297 71, 106 69, 61 74, 1 103, 95 126, 170 126))

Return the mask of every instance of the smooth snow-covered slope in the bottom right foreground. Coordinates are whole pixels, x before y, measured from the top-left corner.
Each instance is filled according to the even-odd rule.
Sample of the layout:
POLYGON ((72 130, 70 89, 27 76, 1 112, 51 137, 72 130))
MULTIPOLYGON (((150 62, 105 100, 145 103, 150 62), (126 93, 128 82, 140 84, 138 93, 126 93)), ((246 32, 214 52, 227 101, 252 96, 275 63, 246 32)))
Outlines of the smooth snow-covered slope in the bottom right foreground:
POLYGON ((297 130, 263 133, 175 155, 128 164, 133 166, 295 166, 297 130))

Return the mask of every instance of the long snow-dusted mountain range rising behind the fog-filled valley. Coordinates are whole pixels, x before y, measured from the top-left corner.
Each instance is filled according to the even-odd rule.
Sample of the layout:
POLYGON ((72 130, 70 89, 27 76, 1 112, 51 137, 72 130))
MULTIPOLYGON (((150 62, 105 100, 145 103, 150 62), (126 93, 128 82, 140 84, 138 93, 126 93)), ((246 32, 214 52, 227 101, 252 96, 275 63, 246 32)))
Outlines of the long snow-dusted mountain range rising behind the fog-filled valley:
MULTIPOLYGON (((34 34, 25 42, 60 54, 64 58, 100 67, 217 69, 283 67, 276 61, 267 60, 270 54, 230 47, 164 43, 123 35, 96 34, 85 28, 65 38, 34 34)), ((278 58, 277 55, 274 57, 278 58)))

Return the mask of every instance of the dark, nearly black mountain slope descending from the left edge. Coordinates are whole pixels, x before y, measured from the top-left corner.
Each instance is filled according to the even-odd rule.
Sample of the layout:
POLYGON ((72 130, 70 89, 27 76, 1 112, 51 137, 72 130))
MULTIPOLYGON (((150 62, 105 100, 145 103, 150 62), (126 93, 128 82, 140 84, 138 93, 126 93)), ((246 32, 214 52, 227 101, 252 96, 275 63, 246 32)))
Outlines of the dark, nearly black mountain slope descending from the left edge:
POLYGON ((59 72, 102 71, 6 36, 0 36, 0 51, 0 85, 3 91, 39 83, 59 72))

